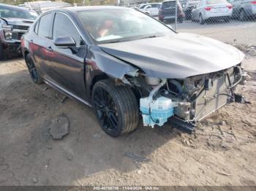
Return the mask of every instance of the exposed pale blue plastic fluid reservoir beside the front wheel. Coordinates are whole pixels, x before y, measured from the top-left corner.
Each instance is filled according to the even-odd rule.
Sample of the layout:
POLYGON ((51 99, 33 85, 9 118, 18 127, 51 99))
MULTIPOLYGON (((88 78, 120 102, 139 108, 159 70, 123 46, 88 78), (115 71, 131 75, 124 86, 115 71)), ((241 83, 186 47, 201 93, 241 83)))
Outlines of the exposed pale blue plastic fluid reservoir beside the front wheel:
POLYGON ((140 98, 140 111, 143 116, 143 125, 162 126, 167 119, 173 116, 173 101, 170 98, 159 97, 151 101, 149 97, 140 98))

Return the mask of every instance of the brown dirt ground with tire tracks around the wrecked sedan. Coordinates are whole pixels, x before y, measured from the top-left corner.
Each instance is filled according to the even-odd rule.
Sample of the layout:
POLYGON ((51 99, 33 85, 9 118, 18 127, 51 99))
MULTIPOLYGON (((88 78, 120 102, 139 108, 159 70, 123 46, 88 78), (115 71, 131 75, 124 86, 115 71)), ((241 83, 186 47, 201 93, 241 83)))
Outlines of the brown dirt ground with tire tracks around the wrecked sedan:
POLYGON ((31 82, 23 59, 0 62, 0 185, 256 185, 256 58, 242 48, 238 91, 252 104, 225 106, 193 135, 140 126, 113 139, 88 106, 31 82), (53 140, 59 115, 69 134, 53 140))

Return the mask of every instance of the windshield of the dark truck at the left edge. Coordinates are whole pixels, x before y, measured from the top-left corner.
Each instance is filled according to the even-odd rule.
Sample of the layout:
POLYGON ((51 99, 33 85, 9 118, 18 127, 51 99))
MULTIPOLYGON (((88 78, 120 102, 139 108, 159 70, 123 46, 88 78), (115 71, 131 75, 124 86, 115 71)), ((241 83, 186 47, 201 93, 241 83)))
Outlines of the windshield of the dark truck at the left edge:
POLYGON ((0 7, 0 17, 23 18, 35 20, 37 18, 36 12, 31 12, 23 9, 12 9, 10 7, 0 7))

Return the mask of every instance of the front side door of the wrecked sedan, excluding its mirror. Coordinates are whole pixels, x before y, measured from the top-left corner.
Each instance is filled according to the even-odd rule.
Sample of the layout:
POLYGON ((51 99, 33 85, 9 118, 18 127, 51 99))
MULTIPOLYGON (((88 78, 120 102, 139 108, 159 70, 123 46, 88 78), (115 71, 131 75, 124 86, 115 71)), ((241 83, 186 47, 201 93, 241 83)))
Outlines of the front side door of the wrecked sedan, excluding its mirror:
POLYGON ((53 41, 48 46, 51 50, 50 80, 64 90, 86 99, 84 74, 84 59, 87 47, 78 28, 71 18, 61 12, 56 12, 53 19, 53 41), (70 36, 75 40, 75 47, 57 47, 54 40, 60 36, 70 36))

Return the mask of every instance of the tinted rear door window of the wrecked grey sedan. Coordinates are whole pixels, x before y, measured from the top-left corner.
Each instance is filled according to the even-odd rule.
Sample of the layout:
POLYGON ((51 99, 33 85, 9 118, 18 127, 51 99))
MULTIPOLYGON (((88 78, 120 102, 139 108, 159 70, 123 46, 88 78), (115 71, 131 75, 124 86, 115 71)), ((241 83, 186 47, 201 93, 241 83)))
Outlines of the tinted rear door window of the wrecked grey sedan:
POLYGON ((44 38, 51 38, 50 35, 50 23, 52 20, 53 14, 47 14, 40 18, 39 27, 38 27, 38 36, 44 37, 44 38))

